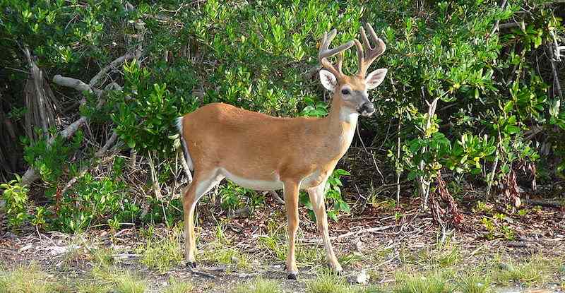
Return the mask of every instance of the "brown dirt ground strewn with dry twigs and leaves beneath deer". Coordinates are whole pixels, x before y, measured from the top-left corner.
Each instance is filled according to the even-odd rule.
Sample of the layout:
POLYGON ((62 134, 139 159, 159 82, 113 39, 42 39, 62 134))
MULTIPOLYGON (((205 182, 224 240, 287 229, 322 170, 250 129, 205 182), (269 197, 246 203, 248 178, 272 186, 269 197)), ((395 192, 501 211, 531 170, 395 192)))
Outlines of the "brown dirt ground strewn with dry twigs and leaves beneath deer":
MULTIPOLYGON (((402 210, 384 205, 369 206, 360 214, 341 217, 338 223, 331 222, 330 231, 347 280, 356 282, 359 273, 369 270, 369 283, 383 287, 393 285, 396 273, 407 269, 480 268, 485 263, 519 263, 531 256, 562 261, 565 256, 565 210, 526 208, 529 212, 525 215, 506 217, 463 209, 463 225, 448 229, 443 244, 440 244, 444 236, 441 229, 427 213, 420 213, 415 203, 406 203, 402 210), (492 227, 485 225, 485 218, 492 219, 492 227)), ((18 234, 4 230, 0 233, 0 263, 9 269, 36 262, 59 279, 80 280, 86 278, 95 266, 89 251, 112 249, 115 265, 142 276, 148 282, 150 292, 159 292, 169 277, 191 282, 196 287, 195 292, 230 292, 233 287, 254 277, 279 280, 289 292, 306 292, 307 282, 314 280, 324 267, 319 234, 303 208, 297 245, 298 249, 314 251, 314 254, 299 263, 299 280, 286 280, 284 261, 276 256, 276 251, 259 241, 272 233, 269 227, 273 225, 284 231, 283 207, 278 203, 267 203, 248 217, 240 218, 214 216, 212 210, 207 210, 207 205, 201 205, 199 211, 197 259, 203 251, 213 256, 215 252, 210 244, 218 237, 218 227, 221 227, 222 237, 229 239, 229 244, 225 245, 246 256, 246 268, 238 268, 229 261, 201 261, 198 268, 191 271, 181 261, 166 272, 158 273, 140 262, 138 248, 147 241, 143 236, 147 230, 138 228, 90 229, 78 235, 39 232, 31 227, 18 234)), ((157 226, 153 233, 166 235, 171 231, 157 226)), ((182 237, 178 239, 180 251, 182 237)), ((280 244, 284 245, 285 241, 280 244)), ((558 292, 560 284, 565 282, 561 279, 564 275, 550 276, 534 287, 558 292)), ((511 288, 514 285, 509 284, 511 288)), ((516 288, 520 290, 520 287, 516 288)))

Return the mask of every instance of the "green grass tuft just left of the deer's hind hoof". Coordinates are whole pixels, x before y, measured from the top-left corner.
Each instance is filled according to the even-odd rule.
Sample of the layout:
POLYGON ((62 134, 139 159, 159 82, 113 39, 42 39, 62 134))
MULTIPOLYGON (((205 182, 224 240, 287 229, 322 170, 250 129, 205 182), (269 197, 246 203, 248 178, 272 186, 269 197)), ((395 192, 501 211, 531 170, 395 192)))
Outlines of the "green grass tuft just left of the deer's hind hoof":
POLYGON ((167 237, 150 237, 145 245, 136 249, 141 254, 140 262, 159 273, 165 273, 178 265, 183 256, 175 235, 176 233, 167 237))

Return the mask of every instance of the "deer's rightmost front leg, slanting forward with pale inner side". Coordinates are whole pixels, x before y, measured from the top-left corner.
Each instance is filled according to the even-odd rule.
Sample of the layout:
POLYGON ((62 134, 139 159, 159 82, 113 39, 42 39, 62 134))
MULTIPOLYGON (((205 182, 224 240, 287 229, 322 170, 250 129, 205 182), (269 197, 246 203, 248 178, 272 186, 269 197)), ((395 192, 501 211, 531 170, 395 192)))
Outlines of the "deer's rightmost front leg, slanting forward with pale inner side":
POLYGON ((316 215, 316 225, 318 225, 318 229, 320 230, 320 234, 322 236, 323 247, 324 249, 326 249, 326 259, 328 261, 328 265, 336 273, 340 273, 343 268, 341 268, 338 259, 335 258, 335 253, 333 253, 333 248, 330 242, 330 234, 328 233, 328 215, 326 215, 326 203, 323 193, 325 186, 326 182, 324 181, 319 186, 308 189, 308 195, 310 197, 312 208, 314 209, 314 214, 316 215))

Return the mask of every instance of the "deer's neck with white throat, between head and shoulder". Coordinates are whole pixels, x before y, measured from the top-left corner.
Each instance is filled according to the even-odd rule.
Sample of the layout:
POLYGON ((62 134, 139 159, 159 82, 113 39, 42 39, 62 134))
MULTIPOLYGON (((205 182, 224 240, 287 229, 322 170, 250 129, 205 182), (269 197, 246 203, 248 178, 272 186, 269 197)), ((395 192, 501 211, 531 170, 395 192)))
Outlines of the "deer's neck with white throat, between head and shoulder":
POLYGON ((329 150, 332 155, 342 157, 351 145, 359 114, 345 107, 340 96, 334 95, 330 113, 326 116, 328 135, 326 145, 335 145, 329 150))

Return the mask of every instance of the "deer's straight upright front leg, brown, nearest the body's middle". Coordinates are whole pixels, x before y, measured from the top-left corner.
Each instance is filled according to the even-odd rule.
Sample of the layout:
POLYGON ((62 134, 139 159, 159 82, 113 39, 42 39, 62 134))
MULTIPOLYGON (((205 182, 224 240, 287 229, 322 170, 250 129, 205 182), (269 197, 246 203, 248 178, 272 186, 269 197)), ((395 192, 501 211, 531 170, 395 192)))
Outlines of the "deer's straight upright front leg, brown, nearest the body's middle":
POLYGON ((288 222, 287 278, 296 280, 298 268, 295 257, 295 238, 298 230, 298 192, 296 182, 285 182, 285 208, 288 222))

